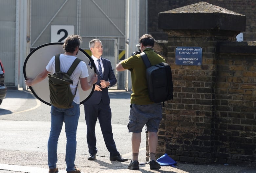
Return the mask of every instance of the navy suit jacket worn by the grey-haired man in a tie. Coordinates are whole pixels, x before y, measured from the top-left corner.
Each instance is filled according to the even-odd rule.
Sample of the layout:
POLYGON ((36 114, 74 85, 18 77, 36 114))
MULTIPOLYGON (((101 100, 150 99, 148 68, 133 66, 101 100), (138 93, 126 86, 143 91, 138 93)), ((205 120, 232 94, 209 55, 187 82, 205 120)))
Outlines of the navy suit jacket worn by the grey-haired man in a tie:
MULTIPOLYGON (((112 87, 113 85, 115 85, 117 83, 117 78, 114 74, 113 68, 111 66, 111 62, 108 59, 102 58, 102 64, 104 67, 104 72, 103 72, 103 76, 102 79, 99 76, 99 72, 96 69, 96 73, 98 75, 98 80, 96 82, 97 85, 100 85, 100 80, 105 80, 105 81, 109 81, 110 82, 110 86, 112 87)), ((92 96, 86 100, 83 104, 84 105, 97 105, 99 104, 100 100, 102 99, 104 104, 110 104, 110 98, 108 95, 108 87, 101 89, 102 91, 94 91, 92 96)))

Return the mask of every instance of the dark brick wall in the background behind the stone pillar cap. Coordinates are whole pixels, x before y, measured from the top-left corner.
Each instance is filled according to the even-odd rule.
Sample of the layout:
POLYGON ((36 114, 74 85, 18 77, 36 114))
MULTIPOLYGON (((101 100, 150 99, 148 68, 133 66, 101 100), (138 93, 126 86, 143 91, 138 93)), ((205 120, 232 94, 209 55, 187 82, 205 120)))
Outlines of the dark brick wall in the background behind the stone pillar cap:
MULTIPOLYGON (((162 29, 158 29, 158 13, 198 2, 196 0, 148 0, 148 33, 152 34, 156 40, 167 40, 167 34, 162 29)), ((204 2, 245 15, 244 41, 256 40, 255 0, 204 0, 204 2)))

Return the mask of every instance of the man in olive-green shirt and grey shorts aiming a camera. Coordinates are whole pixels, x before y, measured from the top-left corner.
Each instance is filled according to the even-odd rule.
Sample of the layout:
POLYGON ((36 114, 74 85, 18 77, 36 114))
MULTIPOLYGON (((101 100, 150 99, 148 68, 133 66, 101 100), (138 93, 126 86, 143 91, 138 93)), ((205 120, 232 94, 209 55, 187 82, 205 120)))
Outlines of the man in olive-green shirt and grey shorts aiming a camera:
MULTIPOLYGON (((153 50, 154 37, 144 34, 139 38, 140 51, 145 52, 151 65, 165 62, 164 58, 153 50)), ((149 98, 146 66, 140 55, 134 55, 117 64, 117 71, 129 69, 132 77, 131 109, 129 114, 128 130, 132 132, 132 161, 129 169, 139 169, 139 146, 141 142, 141 131, 145 127, 148 132, 148 145, 150 155, 150 169, 160 168, 156 161, 156 149, 158 144, 158 128, 162 119, 162 104, 154 103, 149 98)))

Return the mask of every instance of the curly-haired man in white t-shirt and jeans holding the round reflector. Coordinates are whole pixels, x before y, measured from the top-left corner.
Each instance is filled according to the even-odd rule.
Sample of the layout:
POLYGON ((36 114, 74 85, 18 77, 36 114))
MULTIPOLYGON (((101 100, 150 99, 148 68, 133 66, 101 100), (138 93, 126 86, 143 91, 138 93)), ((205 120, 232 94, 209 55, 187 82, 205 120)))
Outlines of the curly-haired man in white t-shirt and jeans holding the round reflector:
MULTIPOLYGON (((67 72, 73 61, 76 59, 76 55, 79 52, 79 47, 82 43, 82 38, 79 35, 69 35, 64 44, 63 49, 64 54, 60 54, 60 70, 62 72, 67 72)), ((39 73, 34 79, 27 78, 25 83, 27 86, 32 86, 44 78, 47 77, 48 73, 55 73, 55 61, 53 58, 49 61, 45 70, 39 73)), ((57 143, 58 138, 62 129, 63 122, 65 123, 65 131, 67 137, 66 144, 66 164, 67 173, 80 173, 80 169, 75 167, 75 152, 76 152, 76 130, 78 125, 78 118, 80 115, 79 108, 79 94, 78 90, 75 94, 75 89, 77 82, 80 80, 80 85, 83 91, 92 88, 93 84, 97 81, 97 75, 93 76, 90 82, 87 81, 88 69, 85 62, 80 61, 74 72, 71 75, 73 84, 70 84, 72 94, 75 98, 72 102, 72 106, 69 109, 61 109, 55 106, 51 106, 51 131, 48 140, 48 166, 49 173, 58 172, 56 166, 57 163, 57 143)))

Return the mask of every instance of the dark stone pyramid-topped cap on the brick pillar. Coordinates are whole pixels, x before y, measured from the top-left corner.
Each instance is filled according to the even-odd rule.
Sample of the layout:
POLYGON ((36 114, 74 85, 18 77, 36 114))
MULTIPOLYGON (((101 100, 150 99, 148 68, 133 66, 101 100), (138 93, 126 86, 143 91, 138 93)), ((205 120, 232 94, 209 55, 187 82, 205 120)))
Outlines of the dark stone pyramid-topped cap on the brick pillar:
MULTIPOLYGON (((163 30, 221 30, 245 31, 245 15, 207 2, 184 6, 158 14, 158 29, 163 30)), ((218 31, 218 32, 216 32, 218 31)))

